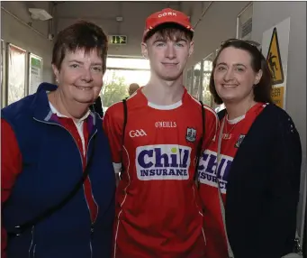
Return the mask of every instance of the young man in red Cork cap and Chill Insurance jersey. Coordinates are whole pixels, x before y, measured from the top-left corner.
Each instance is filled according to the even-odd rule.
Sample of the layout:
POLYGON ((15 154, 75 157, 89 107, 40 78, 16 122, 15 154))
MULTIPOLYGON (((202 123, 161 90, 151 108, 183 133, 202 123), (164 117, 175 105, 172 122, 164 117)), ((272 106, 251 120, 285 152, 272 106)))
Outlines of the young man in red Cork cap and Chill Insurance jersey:
POLYGON ((203 257, 194 171, 218 119, 183 85, 193 32, 188 17, 176 10, 150 15, 141 43, 150 60, 149 83, 104 117, 118 180, 121 171, 113 257, 203 257))

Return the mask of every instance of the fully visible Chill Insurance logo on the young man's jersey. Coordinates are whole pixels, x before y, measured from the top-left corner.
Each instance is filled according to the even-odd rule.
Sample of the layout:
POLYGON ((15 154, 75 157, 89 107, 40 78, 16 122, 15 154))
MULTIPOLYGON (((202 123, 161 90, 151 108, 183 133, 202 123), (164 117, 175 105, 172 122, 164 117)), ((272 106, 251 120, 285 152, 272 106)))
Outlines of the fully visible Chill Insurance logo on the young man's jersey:
POLYGON ((188 180, 191 148, 176 144, 140 146, 136 150, 139 180, 188 180))

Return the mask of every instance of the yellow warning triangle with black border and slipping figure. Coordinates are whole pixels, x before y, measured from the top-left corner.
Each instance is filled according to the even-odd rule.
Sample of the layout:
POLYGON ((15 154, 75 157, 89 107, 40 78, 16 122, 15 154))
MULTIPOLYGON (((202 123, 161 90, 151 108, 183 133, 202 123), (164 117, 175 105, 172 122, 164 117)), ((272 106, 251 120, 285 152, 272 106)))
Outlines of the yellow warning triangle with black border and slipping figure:
POLYGON ((266 57, 267 65, 272 73, 273 85, 281 84, 284 82, 284 70, 282 64, 282 57, 279 51, 277 30, 274 28, 270 46, 268 48, 267 57, 266 57))

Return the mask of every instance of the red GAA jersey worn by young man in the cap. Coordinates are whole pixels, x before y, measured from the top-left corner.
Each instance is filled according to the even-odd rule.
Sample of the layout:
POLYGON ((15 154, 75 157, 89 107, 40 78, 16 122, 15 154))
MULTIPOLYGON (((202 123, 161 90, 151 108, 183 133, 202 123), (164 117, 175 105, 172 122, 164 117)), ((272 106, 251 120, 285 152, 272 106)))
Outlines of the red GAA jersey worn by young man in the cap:
MULTIPOLYGON (((110 106, 104 116, 114 168, 125 168, 116 192, 113 257, 201 258, 203 211, 194 184, 201 105, 185 90, 176 104, 157 106, 139 89, 127 106, 123 148, 122 103, 110 106)), ((218 124, 212 109, 204 109, 203 149, 218 124)))

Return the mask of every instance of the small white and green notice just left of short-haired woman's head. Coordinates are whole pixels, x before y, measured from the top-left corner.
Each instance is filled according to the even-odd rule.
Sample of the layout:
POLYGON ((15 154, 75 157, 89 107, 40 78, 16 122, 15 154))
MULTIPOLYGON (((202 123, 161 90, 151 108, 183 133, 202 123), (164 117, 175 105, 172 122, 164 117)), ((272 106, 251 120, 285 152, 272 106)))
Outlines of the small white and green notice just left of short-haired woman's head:
POLYGON ((29 94, 34 94, 42 82, 42 58, 29 55, 29 94))

